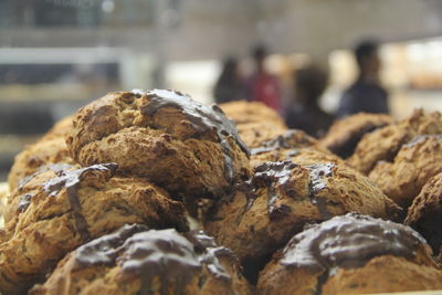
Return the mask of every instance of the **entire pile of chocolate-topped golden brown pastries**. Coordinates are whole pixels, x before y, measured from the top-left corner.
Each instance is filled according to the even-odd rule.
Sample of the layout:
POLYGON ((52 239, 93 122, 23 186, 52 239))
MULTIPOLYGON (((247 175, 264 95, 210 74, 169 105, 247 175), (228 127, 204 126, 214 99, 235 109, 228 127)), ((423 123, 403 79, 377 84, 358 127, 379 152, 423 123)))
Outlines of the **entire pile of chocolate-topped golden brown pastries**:
POLYGON ((345 120, 318 140, 259 103, 109 93, 15 157, 0 292, 442 289, 441 114, 345 120))

